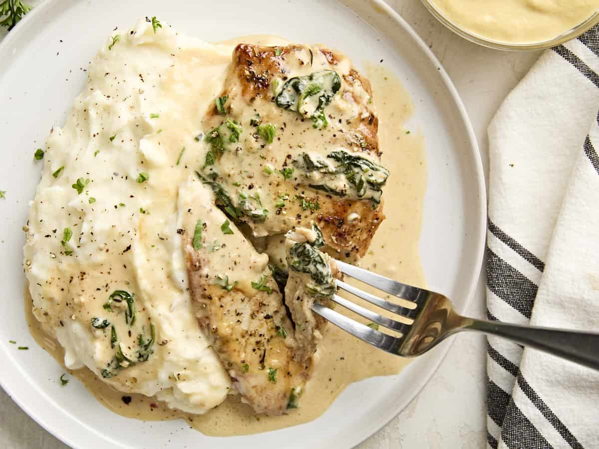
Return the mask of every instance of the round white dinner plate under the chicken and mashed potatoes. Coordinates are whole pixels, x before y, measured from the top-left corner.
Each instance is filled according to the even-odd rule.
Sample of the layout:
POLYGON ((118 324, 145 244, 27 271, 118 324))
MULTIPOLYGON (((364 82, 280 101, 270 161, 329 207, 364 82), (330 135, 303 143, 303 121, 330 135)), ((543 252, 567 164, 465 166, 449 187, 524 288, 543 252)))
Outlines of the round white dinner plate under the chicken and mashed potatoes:
MULTIPOLYGON (((409 126, 426 138, 428 185, 420 254, 432 289, 464 311, 474 291, 485 238, 485 188, 479 152, 458 95, 415 32, 379 0, 217 2, 46 1, 0 45, 0 383, 49 432, 75 448, 352 447, 398 414, 431 378, 449 343, 400 375, 352 384, 319 419, 276 432, 209 438, 184 421, 143 422, 100 405, 78 381, 59 385, 62 369, 29 335, 23 314, 21 227, 40 176, 35 148, 62 124, 83 88, 87 63, 115 27, 157 16, 205 40, 271 33, 340 48, 356 65, 384 59, 412 95, 409 126), (13 339, 28 345, 18 351, 13 339)), ((387 198, 392 207, 392 199, 387 198)), ((409 213, 409 211, 406 211, 409 213)))

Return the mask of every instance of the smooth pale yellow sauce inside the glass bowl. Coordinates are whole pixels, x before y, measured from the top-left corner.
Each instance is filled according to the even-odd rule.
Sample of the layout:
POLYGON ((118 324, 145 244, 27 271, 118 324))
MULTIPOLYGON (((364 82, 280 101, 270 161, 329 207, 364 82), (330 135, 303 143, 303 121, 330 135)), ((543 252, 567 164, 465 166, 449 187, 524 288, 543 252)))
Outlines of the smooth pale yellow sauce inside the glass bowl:
POLYGON ((587 23, 599 9, 599 0, 426 1, 450 22, 446 25, 487 43, 508 45, 551 43, 587 23))

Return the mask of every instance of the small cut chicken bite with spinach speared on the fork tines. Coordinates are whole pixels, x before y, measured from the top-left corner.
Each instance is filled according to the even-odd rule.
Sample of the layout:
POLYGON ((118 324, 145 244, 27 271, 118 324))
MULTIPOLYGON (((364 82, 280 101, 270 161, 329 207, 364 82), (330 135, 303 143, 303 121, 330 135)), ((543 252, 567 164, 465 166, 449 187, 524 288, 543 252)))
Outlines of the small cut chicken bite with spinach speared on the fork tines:
POLYGON ((328 254, 319 251, 323 245, 322 233, 316 225, 312 229, 301 227, 286 234, 289 278, 285 304, 295 323, 295 360, 313 356, 326 327, 327 321, 311 311, 313 302, 329 306, 337 291, 334 278, 340 277, 340 273, 328 254))

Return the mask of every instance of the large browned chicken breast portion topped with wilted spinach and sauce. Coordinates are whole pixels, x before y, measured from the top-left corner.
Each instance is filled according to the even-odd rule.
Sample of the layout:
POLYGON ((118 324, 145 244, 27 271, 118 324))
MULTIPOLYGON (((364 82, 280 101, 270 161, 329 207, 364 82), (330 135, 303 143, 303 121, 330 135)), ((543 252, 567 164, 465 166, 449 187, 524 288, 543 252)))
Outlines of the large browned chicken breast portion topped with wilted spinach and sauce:
POLYGON ((384 219, 370 83, 323 47, 240 44, 204 117, 202 180, 255 236, 317 223, 335 257, 364 255, 384 219))

